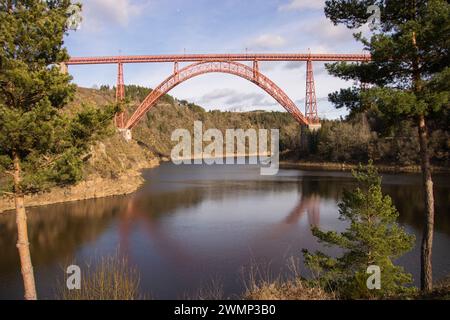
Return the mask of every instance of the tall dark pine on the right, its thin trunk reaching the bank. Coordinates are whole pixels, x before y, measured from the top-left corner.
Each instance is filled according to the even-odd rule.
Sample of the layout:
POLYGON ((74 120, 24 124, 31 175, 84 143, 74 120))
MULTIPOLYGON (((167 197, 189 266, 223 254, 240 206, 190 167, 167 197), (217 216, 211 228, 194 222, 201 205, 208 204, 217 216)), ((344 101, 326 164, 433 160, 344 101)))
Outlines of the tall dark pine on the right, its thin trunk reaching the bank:
POLYGON ((370 39, 355 38, 370 52, 365 64, 328 65, 331 74, 368 85, 330 95, 337 107, 360 112, 377 109, 393 125, 416 124, 420 142, 426 221, 421 249, 421 288, 432 290, 434 193, 428 147, 432 118, 448 118, 450 97, 450 4, 444 0, 329 0, 325 14, 334 24, 359 28, 367 22, 367 9, 377 5, 381 21, 370 39))

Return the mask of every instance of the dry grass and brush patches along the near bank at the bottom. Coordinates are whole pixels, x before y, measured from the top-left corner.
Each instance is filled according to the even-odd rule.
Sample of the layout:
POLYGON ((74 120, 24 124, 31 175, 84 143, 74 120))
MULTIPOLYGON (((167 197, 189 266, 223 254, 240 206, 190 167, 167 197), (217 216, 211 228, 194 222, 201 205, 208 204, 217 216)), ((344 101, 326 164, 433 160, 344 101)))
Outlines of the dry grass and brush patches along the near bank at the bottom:
MULTIPOLYGON (((151 293, 139 291, 140 273, 125 257, 119 255, 99 259, 97 266, 88 266, 81 290, 67 290, 65 283, 56 288, 56 298, 63 300, 144 300, 151 293)), ((294 272, 289 279, 256 277, 251 273, 244 280, 245 291, 239 296, 223 294, 220 281, 212 281, 195 294, 186 294, 184 299, 194 300, 342 300, 336 291, 329 291, 306 280, 294 272)), ((391 300, 450 300, 450 276, 438 281, 431 293, 414 290, 404 295, 393 295, 391 300)))

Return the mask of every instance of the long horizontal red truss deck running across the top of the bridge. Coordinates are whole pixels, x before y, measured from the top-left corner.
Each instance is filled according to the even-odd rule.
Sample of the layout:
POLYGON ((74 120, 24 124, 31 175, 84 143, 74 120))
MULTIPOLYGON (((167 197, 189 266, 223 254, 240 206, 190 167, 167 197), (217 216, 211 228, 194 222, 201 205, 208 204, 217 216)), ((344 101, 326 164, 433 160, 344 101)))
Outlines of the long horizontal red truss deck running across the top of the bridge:
POLYGON ((370 60, 369 54, 311 54, 311 53, 278 53, 278 54, 178 54, 178 55, 145 55, 145 56, 110 56, 110 57, 74 57, 67 61, 68 65, 79 64, 117 64, 117 63, 149 63, 149 62, 218 62, 218 61, 355 61, 370 60))

